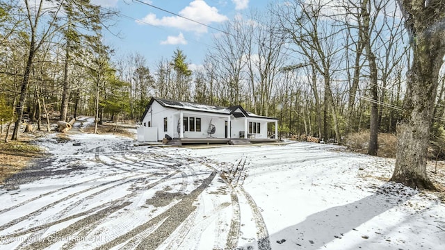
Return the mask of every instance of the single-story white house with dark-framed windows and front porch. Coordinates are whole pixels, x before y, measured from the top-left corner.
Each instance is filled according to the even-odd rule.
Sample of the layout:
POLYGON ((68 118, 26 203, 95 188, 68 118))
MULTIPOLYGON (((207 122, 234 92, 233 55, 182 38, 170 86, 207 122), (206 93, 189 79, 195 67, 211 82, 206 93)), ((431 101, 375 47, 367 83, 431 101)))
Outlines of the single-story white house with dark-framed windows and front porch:
MULTIPOLYGON (((171 138, 268 139, 268 123, 278 119, 249 113, 241 106, 209 106, 186 101, 150 100, 138 128, 139 141, 171 138)), ((276 137, 275 137, 276 138, 276 137)))

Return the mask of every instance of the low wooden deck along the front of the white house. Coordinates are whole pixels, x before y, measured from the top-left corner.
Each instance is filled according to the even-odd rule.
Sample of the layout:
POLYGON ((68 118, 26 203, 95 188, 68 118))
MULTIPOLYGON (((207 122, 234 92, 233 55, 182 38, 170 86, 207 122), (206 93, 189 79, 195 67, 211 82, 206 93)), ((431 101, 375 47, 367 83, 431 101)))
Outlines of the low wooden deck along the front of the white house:
POLYGON ((185 144, 254 144, 254 143, 274 143, 277 139, 243 139, 243 138, 174 138, 167 144, 172 146, 182 146, 185 144))

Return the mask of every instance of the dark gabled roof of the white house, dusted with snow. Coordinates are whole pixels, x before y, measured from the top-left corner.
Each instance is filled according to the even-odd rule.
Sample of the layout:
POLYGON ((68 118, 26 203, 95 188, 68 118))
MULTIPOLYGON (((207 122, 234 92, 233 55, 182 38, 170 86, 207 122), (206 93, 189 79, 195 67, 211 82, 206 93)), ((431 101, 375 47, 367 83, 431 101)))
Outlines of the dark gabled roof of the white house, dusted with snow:
POLYGON ((188 111, 196 111, 196 112, 204 112, 204 113, 214 113, 218 115, 234 115, 234 117, 257 117, 264 119, 277 119, 272 117, 263 117, 259 115, 255 115, 254 113, 249 113, 244 110, 241 106, 230 106, 230 107, 222 107, 222 106, 211 106, 200 103, 192 103, 188 101, 174 101, 169 99, 161 99, 152 97, 149 101, 147 108, 145 108, 145 112, 141 117, 141 120, 144 119, 145 115, 149 110, 149 107, 152 106, 153 102, 157 101, 164 108, 173 108, 176 110, 188 110, 188 111), (241 111, 241 112, 240 112, 241 111))

